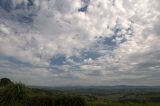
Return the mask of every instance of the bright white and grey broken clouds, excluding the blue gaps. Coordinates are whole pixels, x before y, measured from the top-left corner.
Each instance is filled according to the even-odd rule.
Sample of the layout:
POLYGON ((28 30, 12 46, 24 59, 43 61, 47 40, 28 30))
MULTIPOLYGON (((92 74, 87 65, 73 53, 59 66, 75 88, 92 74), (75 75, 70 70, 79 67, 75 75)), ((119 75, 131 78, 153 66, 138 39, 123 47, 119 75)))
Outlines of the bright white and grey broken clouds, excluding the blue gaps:
MULTIPOLYGON (((27 3, 25 0, 18 0, 14 4, 23 1, 27 3)), ((88 82, 98 78, 101 79, 97 81, 99 83, 105 80, 114 82, 122 80, 125 76, 124 79, 149 77, 151 69, 158 69, 156 64, 159 63, 157 58, 160 51, 158 0, 90 0, 86 12, 78 11, 83 6, 81 0, 35 0, 34 3, 36 6, 32 7, 33 10, 0 13, 2 16, 0 55, 14 57, 33 66, 49 67, 42 69, 42 72, 41 68, 33 68, 31 73, 36 73, 31 74, 33 80, 36 79, 34 76, 38 78, 43 74, 49 83, 47 77, 52 79, 67 76, 88 79, 88 82), (36 14, 32 17, 32 23, 20 23, 15 19, 4 18, 13 14, 26 16, 29 13, 36 14), (107 48, 108 45, 96 43, 99 38, 113 36, 116 25, 120 31, 116 35, 118 37, 114 39, 117 44, 115 49, 110 50, 107 48), (127 32, 131 27, 132 32, 127 32), (121 43, 122 39, 127 40, 121 43), (96 59, 85 58, 80 63, 69 59, 71 56, 83 56, 81 53, 85 49, 98 52, 100 56, 96 59), (60 69, 63 71, 59 73, 55 69, 52 70, 50 64, 51 58, 57 54, 64 54, 71 64, 61 66, 60 69), (151 64, 150 61, 155 64, 148 65, 150 67, 146 66, 147 68, 142 67, 151 64), (136 74, 139 73, 138 70, 144 69, 150 72, 145 71, 139 76, 136 74), (118 77, 117 73, 121 75, 118 77)), ((21 75, 22 73, 19 79, 23 79, 21 75)), ((77 82, 82 84, 83 81, 77 82)))

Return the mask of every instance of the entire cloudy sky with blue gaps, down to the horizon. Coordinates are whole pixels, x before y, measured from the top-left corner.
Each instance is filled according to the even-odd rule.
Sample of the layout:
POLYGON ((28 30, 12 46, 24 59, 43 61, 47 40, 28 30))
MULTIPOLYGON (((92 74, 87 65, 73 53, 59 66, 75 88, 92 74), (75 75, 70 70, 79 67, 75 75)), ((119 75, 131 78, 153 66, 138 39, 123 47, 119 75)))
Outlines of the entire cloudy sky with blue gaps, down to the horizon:
POLYGON ((0 78, 160 85, 160 0, 1 0, 0 78))

